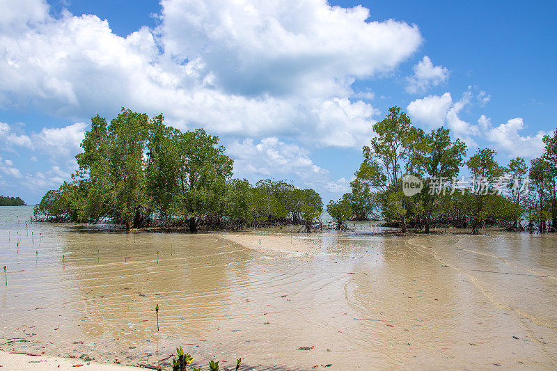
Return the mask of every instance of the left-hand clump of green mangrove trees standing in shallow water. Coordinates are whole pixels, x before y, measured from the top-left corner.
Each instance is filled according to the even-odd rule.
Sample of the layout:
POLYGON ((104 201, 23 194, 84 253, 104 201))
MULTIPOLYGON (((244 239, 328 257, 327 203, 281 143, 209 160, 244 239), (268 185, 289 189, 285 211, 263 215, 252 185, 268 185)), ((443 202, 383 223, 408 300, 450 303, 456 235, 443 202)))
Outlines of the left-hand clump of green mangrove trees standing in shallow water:
POLYGON ((107 124, 100 116, 76 156, 70 182, 48 191, 35 215, 51 221, 111 222, 130 228, 184 226, 242 228, 305 223, 322 214, 313 189, 282 180, 233 179, 233 159, 218 136, 203 129, 181 132, 162 114, 122 109, 107 124))

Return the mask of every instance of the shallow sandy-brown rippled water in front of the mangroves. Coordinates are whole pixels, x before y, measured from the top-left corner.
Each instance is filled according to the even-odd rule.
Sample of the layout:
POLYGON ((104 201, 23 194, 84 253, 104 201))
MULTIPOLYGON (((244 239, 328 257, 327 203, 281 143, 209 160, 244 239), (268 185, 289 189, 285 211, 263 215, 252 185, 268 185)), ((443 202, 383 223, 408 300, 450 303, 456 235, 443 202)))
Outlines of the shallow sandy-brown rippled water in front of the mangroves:
POLYGON ((0 207, 1 349, 156 365, 182 345, 246 370, 557 367, 553 235, 265 235, 302 246, 280 251, 26 228, 29 214, 0 207))

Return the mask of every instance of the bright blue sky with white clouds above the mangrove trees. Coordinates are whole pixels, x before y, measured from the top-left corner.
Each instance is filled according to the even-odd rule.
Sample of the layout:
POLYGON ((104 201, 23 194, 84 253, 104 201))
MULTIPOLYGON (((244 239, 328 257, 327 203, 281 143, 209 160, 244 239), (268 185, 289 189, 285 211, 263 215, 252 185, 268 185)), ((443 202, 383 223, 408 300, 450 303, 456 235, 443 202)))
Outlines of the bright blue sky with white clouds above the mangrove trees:
POLYGON ((92 116, 218 134, 235 176, 347 191, 389 106, 537 157, 556 129, 553 1, 0 0, 0 194, 36 203, 92 116), (82 16, 83 15, 83 16, 82 16), (106 20, 106 22, 105 22, 106 20))

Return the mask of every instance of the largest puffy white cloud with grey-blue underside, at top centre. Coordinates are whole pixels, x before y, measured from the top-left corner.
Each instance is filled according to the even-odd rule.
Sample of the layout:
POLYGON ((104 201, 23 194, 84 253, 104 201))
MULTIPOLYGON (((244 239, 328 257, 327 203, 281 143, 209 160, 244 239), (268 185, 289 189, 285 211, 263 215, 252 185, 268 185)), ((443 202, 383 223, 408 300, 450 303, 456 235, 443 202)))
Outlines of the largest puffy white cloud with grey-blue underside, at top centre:
POLYGON ((325 0, 163 0, 160 40, 175 57, 198 61, 230 93, 329 96, 391 70, 421 45, 416 26, 368 22, 363 6, 325 0), (185 37, 189 35, 189 37, 185 37))

